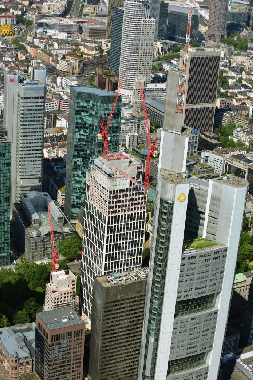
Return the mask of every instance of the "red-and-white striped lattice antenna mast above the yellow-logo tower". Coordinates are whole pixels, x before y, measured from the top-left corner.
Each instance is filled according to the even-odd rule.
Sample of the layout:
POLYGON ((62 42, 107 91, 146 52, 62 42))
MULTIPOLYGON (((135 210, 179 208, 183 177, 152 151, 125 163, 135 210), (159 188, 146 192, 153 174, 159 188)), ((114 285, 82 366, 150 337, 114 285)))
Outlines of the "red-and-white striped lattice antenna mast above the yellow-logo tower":
POLYGON ((184 63, 179 73, 178 100, 177 100, 177 105, 176 105, 176 112, 180 114, 183 113, 183 108, 184 108, 185 81, 186 81, 187 62, 188 62, 188 55, 189 55, 192 12, 193 12, 193 9, 191 9, 190 12, 188 13, 188 24, 187 24, 185 49, 184 49, 184 63))

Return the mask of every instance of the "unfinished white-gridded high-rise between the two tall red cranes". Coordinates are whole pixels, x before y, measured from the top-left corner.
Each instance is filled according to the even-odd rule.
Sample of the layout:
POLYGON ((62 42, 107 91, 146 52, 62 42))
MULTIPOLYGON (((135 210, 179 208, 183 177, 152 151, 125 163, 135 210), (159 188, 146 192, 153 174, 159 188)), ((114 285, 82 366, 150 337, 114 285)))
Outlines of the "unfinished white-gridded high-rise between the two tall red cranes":
POLYGON ((147 201, 142 172, 143 165, 123 153, 96 158, 86 172, 79 312, 88 321, 94 277, 141 267, 147 201))

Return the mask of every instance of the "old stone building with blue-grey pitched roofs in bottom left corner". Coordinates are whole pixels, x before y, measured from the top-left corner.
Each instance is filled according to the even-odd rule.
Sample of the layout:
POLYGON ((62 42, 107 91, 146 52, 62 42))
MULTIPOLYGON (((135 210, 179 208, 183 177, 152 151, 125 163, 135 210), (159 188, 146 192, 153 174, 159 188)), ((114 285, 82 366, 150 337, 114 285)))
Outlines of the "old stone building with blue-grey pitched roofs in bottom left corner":
POLYGON ((0 363, 8 378, 20 379, 34 371, 35 324, 25 323, 0 329, 0 363))

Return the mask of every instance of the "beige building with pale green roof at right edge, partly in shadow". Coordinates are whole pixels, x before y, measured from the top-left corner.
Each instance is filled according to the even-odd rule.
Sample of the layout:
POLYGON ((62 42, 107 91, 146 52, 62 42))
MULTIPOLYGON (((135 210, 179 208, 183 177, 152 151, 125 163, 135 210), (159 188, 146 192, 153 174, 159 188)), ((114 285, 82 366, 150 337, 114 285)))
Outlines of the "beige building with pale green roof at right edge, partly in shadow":
POLYGON ((229 309, 229 319, 243 317, 246 312, 248 294, 253 273, 236 273, 229 309))

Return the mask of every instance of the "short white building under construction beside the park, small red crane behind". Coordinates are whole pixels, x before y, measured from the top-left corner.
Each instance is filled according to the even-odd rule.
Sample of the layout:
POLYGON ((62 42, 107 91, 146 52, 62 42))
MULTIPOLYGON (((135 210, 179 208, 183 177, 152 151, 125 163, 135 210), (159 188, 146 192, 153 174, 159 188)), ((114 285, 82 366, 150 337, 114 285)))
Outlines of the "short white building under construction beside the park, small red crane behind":
POLYGON ((70 269, 51 272, 46 284, 44 311, 75 307, 76 277, 70 269))

